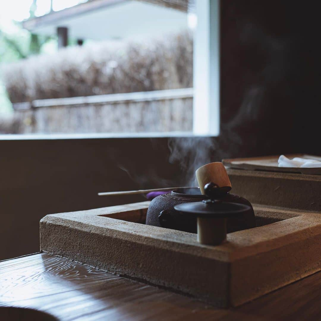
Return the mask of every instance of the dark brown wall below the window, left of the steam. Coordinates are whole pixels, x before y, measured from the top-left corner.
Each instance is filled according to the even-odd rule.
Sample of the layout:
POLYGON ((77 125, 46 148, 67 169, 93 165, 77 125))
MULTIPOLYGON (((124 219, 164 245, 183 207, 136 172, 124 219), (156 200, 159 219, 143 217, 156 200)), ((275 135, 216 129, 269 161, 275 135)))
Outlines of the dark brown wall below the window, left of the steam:
POLYGON ((37 252, 47 214, 144 201, 97 193, 180 179, 162 138, 0 140, 0 150, 0 260, 37 252))

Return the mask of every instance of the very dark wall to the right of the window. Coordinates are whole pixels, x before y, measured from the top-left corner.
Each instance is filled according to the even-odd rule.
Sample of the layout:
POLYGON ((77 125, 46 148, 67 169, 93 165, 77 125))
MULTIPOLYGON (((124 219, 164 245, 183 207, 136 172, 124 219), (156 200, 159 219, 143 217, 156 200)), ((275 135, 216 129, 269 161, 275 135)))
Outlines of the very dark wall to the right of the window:
POLYGON ((240 153, 320 154, 319 31, 313 1, 221 1, 222 134, 240 153))

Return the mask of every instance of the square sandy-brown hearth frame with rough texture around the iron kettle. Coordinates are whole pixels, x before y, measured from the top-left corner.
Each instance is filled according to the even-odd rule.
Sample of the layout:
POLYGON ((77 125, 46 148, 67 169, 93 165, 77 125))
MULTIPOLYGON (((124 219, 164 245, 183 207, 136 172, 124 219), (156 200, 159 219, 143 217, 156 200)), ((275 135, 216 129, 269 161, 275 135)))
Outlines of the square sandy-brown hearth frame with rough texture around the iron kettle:
POLYGON ((230 233, 220 246, 196 234, 140 224, 149 202, 51 214, 40 221, 43 252, 102 271, 238 306, 321 270, 321 216, 255 205, 272 224, 230 233))

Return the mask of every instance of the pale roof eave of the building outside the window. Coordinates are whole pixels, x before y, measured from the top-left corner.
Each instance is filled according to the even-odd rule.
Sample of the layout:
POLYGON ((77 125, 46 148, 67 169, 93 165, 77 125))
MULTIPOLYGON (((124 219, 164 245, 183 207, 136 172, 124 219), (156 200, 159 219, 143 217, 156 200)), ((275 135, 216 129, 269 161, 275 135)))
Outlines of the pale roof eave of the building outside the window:
POLYGON ((133 39, 187 28, 188 0, 91 0, 22 22, 37 34, 67 27, 76 39, 133 39))

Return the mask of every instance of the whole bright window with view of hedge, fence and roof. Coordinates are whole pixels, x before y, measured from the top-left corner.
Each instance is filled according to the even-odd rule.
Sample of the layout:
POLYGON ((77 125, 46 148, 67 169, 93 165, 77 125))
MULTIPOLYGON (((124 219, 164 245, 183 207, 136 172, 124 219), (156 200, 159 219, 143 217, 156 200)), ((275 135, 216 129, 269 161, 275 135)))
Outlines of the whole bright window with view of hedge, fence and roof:
POLYGON ((0 25, 0 133, 219 134, 218 0, 18 7, 0 25))

